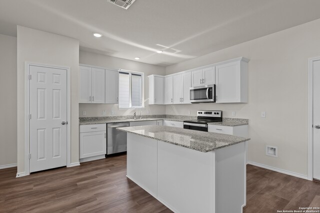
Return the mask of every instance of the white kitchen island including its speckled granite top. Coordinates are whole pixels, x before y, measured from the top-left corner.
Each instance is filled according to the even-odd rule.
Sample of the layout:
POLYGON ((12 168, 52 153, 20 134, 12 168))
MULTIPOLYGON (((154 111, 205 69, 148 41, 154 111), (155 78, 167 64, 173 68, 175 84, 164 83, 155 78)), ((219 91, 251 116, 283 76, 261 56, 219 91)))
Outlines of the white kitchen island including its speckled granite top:
POLYGON ((247 138, 167 126, 124 127, 127 177, 176 213, 241 213, 247 138))

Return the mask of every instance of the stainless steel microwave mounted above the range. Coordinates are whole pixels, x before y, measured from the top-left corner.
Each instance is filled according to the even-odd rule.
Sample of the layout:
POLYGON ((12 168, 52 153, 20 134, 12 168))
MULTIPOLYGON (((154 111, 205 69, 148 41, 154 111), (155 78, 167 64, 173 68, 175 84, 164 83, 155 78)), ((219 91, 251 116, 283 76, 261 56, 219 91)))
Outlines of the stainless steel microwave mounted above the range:
POLYGON ((215 102, 215 84, 190 87, 190 102, 215 102))

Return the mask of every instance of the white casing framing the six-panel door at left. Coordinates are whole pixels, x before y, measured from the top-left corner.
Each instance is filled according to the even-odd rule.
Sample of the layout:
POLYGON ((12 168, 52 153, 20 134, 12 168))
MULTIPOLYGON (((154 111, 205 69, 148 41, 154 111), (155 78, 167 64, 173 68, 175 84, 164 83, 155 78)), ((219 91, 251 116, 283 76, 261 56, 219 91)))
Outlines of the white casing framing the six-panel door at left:
POLYGON ((66 66, 56 66, 50 64, 41 64, 41 63, 31 63, 25 61, 25 93, 24 93, 24 120, 25 120, 25 139, 24 139, 24 173, 17 173, 16 177, 22 177, 26 175, 30 175, 30 160, 28 158, 29 154, 29 79, 28 75, 30 73, 30 66, 40 66, 40 67, 47 67, 47 68, 54 68, 54 69, 64 69, 66 71, 66 90, 67 90, 67 141, 66 141, 66 167, 71 167, 71 69, 70 67, 66 66))

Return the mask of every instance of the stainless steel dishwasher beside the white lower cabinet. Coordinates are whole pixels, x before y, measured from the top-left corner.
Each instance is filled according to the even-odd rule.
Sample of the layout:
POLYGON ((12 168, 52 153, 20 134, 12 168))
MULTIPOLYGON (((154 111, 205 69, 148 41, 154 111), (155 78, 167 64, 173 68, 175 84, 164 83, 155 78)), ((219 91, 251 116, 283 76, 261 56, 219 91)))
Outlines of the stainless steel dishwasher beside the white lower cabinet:
POLYGON ((129 122, 107 124, 106 155, 126 152, 126 132, 116 128, 129 125, 129 122))

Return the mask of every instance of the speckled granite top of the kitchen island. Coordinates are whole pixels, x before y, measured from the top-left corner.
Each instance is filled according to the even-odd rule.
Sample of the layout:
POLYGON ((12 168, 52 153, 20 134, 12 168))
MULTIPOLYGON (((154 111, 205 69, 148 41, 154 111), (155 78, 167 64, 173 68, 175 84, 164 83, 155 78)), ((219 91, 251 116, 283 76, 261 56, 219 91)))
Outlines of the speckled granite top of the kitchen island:
POLYGON ((210 152, 250 140, 220 133, 201 132, 168 126, 122 127, 118 130, 163 141, 200 152, 210 152))

